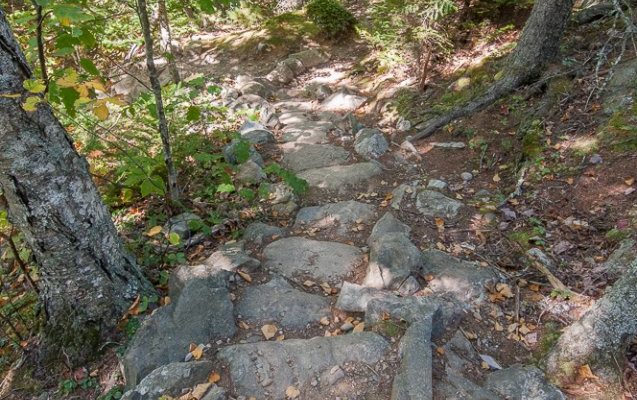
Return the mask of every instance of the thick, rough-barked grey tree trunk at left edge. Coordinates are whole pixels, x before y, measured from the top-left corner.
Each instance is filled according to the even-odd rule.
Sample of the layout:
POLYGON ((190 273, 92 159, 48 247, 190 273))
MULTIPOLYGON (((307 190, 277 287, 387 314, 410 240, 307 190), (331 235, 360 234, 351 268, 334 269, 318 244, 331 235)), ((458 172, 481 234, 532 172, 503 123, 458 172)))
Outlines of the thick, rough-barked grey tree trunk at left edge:
POLYGON ((138 293, 153 289, 122 248, 86 160, 51 108, 22 108, 30 77, 0 10, 0 187, 40 265, 43 356, 64 354, 76 365, 96 355, 138 293))

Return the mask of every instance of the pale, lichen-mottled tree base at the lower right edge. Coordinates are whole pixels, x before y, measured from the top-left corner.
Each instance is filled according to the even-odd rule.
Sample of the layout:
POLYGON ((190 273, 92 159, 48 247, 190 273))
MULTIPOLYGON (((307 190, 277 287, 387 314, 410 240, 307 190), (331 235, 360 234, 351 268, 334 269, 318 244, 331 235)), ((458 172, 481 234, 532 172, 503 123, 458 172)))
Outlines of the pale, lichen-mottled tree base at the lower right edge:
MULTIPOLYGON (((552 380, 566 384, 588 365, 608 388, 618 387, 629 340, 637 335, 637 258, 582 318, 564 330, 549 353, 552 380)), ((610 393, 607 398, 613 397, 610 393)))

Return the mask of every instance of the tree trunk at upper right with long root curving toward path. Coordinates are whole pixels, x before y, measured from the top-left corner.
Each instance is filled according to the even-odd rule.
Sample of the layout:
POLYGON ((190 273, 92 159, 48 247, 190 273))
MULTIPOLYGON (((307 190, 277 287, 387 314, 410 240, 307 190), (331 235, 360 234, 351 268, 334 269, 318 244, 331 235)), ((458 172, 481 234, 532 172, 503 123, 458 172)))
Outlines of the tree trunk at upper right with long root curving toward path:
POLYGON ((536 79, 559 53, 560 39, 571 15, 573 0, 538 0, 524 25, 518 44, 506 60, 503 77, 485 94, 433 119, 409 140, 432 135, 455 119, 471 115, 500 97, 536 79))

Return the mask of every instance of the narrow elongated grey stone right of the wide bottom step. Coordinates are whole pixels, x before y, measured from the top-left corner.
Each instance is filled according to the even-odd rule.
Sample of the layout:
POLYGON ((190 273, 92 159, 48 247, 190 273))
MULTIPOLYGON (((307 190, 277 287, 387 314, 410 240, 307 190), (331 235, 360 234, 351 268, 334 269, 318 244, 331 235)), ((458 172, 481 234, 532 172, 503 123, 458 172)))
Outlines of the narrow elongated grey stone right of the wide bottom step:
POLYGON ((433 397, 431 326, 433 313, 413 322, 400 339, 400 367, 392 385, 392 400, 433 397))

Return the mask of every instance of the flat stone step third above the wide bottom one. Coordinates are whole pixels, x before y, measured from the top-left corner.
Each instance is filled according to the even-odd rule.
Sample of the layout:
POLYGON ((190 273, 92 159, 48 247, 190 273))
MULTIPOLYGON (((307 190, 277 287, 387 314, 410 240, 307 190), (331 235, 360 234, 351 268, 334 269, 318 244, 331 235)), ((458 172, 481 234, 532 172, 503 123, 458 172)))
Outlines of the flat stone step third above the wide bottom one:
POLYGON ((323 206, 305 207, 296 214, 294 228, 328 229, 338 226, 340 235, 347 235, 361 223, 369 223, 374 217, 374 206, 354 200, 330 203, 323 206))

